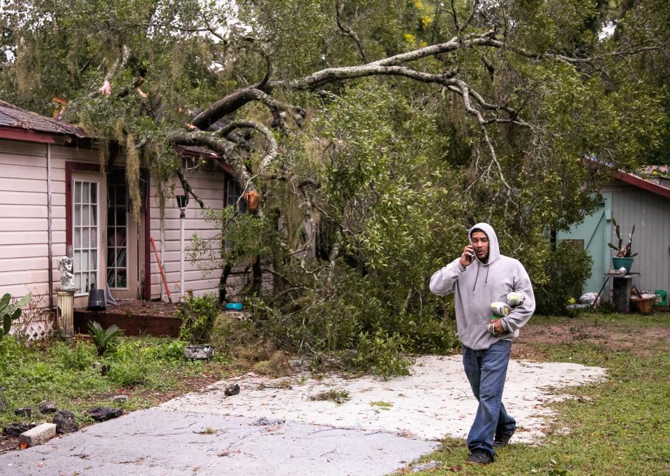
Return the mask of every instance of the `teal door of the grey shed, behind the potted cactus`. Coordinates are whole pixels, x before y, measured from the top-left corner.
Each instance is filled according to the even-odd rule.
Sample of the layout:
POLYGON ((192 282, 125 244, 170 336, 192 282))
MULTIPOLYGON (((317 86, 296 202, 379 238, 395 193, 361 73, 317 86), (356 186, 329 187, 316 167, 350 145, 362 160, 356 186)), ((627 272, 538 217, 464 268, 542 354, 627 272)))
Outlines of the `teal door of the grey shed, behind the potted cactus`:
POLYGON ((603 194, 603 201, 597 205, 595 211, 584 218, 581 224, 573 225, 568 233, 558 233, 558 240, 581 240, 584 249, 593 259, 591 275, 583 286, 583 293, 597 293, 602 287, 602 275, 610 268, 609 248, 609 221, 611 220, 611 197, 603 194))

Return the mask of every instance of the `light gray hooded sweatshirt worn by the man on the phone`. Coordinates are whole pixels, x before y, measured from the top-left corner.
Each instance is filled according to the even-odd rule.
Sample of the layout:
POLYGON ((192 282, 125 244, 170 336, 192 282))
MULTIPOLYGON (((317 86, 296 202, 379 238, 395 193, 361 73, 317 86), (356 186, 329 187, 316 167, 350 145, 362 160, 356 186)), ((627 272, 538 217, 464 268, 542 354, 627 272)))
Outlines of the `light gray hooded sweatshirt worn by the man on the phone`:
POLYGON ((502 256, 498 237, 488 223, 477 223, 468 232, 472 244, 472 230, 480 229, 489 237, 489 261, 482 263, 479 258, 467 268, 461 266, 461 256, 449 263, 431 277, 431 291, 437 295, 454 293, 456 303, 456 324, 459 339, 464 346, 482 350, 500 340, 519 337, 523 327, 535 312, 535 296, 528 272, 514 258, 502 256), (523 291, 526 300, 513 307, 509 316, 502 317, 505 334, 493 337, 486 330, 493 311, 491 302, 507 302, 507 293, 523 291))

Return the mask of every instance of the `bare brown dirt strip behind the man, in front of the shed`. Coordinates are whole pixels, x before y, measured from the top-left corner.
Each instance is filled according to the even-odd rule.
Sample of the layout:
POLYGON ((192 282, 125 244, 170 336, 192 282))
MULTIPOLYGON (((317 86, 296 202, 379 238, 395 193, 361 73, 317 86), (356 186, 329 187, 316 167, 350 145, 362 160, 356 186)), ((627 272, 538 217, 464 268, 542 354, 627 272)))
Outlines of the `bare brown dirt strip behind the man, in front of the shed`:
POLYGON ((588 321, 569 320, 560 324, 542 324, 542 317, 521 330, 512 346, 512 358, 544 360, 537 344, 595 344, 608 351, 628 351, 649 355, 653 350, 670 350, 670 328, 627 328, 603 326, 588 321), (630 332, 629 332, 630 331, 630 332))

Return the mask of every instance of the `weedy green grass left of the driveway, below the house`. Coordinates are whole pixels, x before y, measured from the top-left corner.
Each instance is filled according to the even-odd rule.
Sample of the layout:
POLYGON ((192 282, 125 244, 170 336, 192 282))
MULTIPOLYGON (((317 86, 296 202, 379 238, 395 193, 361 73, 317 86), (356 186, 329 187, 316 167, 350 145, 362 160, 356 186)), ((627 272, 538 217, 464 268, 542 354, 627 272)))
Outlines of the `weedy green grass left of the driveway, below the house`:
MULTIPOLYGON (((184 345, 175 339, 121 337, 114 350, 98 357, 95 346, 85 337, 30 346, 5 337, 0 341, 0 387, 4 389, 0 391, 0 427, 21 421, 14 410, 24 406, 32 409, 30 421, 51 422, 53 415, 39 413, 38 404, 43 400, 56 401, 59 410, 72 411, 82 426, 92 422, 86 416, 91 407, 147 408, 225 374, 225 360, 184 360, 184 345), (109 365, 109 372, 103 375, 94 362, 109 365), (117 394, 126 394, 128 401, 113 404, 117 394)), ((15 449, 15 443, 0 436, 0 452, 15 449)))

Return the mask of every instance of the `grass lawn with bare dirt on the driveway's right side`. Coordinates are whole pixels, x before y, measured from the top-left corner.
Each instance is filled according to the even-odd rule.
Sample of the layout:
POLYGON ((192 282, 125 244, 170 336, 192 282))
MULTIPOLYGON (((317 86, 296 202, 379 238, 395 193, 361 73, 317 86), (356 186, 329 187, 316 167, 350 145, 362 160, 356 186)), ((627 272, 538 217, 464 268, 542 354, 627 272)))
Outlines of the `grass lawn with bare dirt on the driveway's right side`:
POLYGON ((512 438, 495 463, 474 467, 463 463, 465 441, 447 438, 421 459, 443 466, 412 474, 670 475, 670 314, 535 316, 521 334, 512 347, 523 354, 606 367, 609 378, 570 387, 575 398, 553 405, 556 422, 538 445, 512 438))

